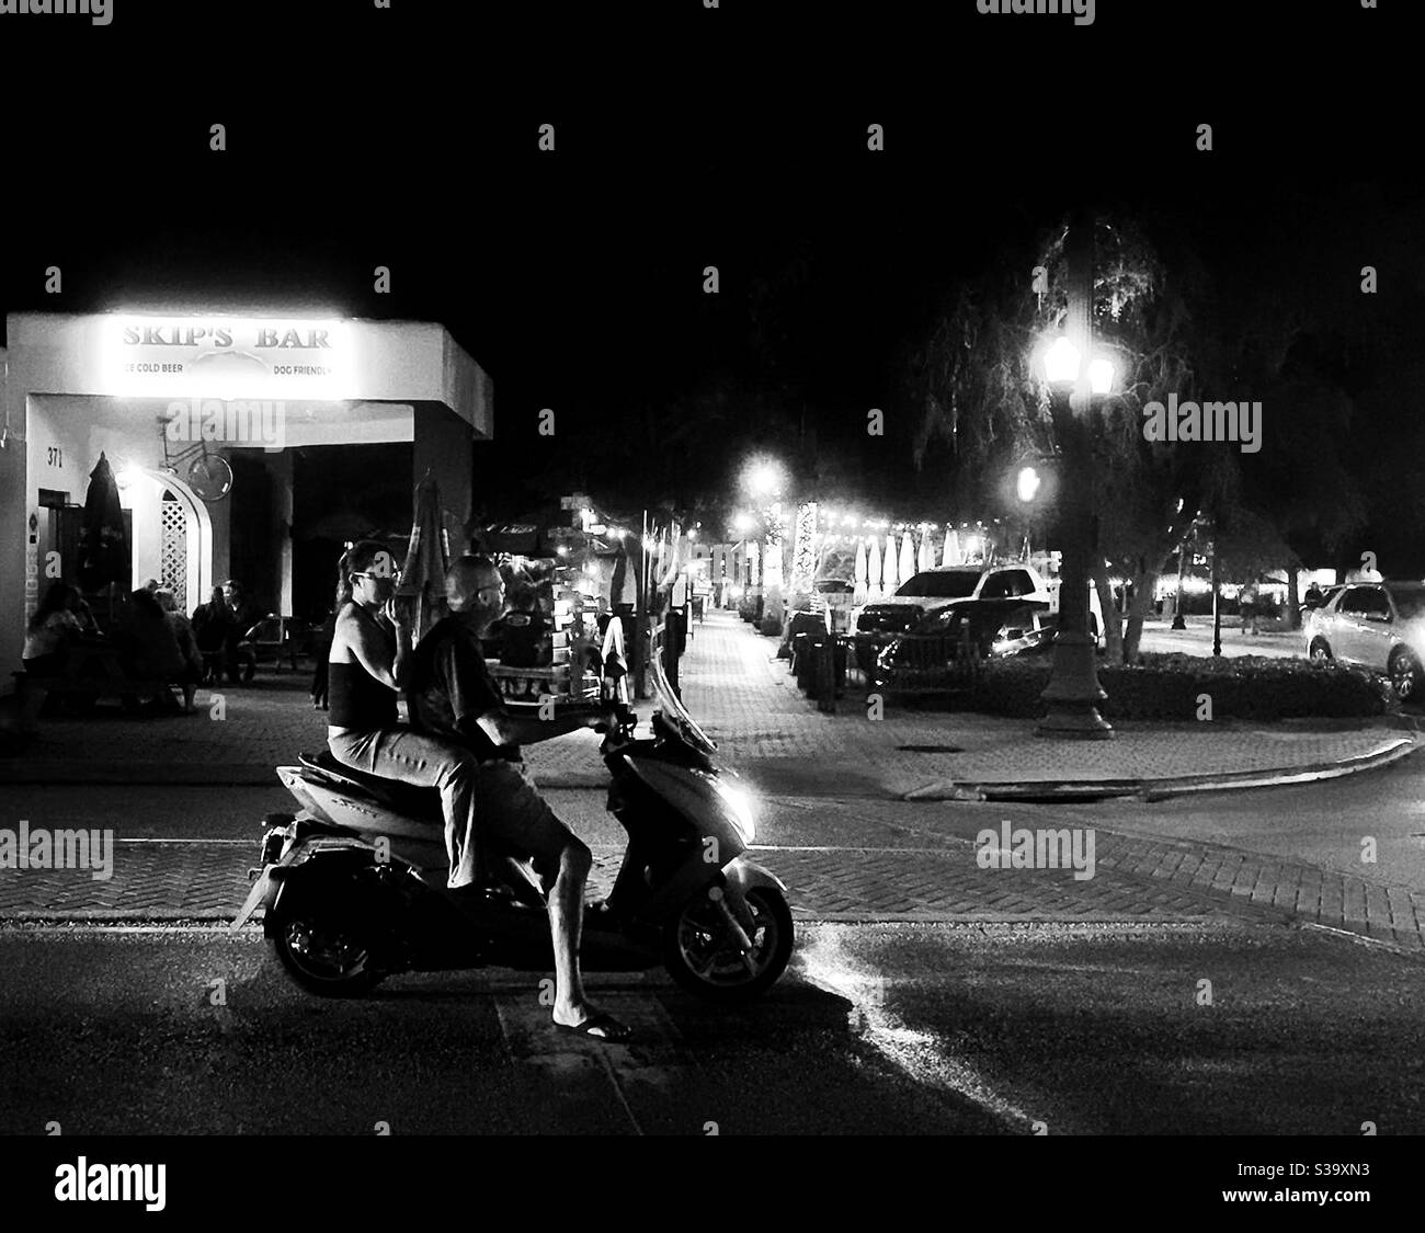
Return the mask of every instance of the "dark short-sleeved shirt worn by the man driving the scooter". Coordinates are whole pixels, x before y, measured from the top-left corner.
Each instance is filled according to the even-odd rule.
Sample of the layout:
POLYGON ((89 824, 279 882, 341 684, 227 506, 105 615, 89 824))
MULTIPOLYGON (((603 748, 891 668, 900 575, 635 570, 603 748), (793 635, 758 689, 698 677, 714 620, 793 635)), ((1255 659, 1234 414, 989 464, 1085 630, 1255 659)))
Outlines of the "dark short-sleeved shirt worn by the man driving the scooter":
POLYGON ((520 760, 519 746, 497 746, 476 726, 490 711, 507 713, 480 639, 456 617, 433 624, 416 646, 406 704, 416 731, 463 746, 477 758, 520 760))

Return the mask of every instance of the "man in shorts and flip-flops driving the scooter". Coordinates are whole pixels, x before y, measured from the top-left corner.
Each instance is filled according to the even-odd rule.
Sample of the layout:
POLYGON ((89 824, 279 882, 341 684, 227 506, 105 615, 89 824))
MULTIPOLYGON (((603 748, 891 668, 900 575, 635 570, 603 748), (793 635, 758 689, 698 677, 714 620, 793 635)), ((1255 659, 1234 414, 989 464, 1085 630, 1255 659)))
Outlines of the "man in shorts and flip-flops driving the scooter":
POLYGON ((450 616, 435 624, 413 653, 406 684, 412 726, 470 753, 479 841, 527 854, 544 884, 554 939, 554 1026, 627 1041, 633 1033, 624 1023, 589 1004, 579 971, 593 854, 534 790, 519 748, 589 727, 603 717, 603 708, 566 703, 551 720, 510 716, 480 650, 480 637, 504 612, 504 582, 489 557, 466 556, 450 566, 446 604, 450 616))

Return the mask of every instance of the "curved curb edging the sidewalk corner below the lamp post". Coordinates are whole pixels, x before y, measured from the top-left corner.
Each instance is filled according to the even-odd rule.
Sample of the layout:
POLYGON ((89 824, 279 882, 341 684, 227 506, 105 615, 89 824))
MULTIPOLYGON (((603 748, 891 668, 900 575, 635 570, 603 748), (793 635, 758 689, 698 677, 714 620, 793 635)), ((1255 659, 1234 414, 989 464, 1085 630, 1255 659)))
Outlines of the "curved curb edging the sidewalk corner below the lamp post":
POLYGON ((1235 774, 1171 775, 1143 780, 1032 780, 1010 783, 979 783, 969 780, 936 780, 905 793, 903 801, 1097 801, 1110 797, 1141 797, 1163 801, 1190 793, 1233 791, 1240 788, 1271 788, 1284 784, 1304 784, 1335 780, 1342 775, 1371 771, 1389 765, 1415 751, 1414 737, 1396 737, 1368 754, 1354 754, 1331 763, 1308 763, 1301 767, 1281 767, 1267 771, 1235 774))

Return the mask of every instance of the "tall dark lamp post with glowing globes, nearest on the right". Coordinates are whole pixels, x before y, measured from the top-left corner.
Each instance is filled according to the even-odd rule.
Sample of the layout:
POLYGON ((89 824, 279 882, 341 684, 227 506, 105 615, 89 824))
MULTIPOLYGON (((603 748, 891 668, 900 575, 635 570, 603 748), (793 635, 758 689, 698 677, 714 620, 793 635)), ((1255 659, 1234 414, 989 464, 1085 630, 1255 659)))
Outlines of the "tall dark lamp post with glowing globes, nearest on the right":
POLYGON ((1045 355, 1052 389, 1054 435, 1063 450, 1066 482, 1060 485, 1063 580, 1059 586, 1059 631, 1049 684, 1040 694, 1046 714, 1039 736, 1106 740, 1113 727, 1099 714, 1107 698, 1094 671, 1096 639, 1089 634, 1089 574, 1099 550, 1093 513, 1093 449, 1084 425, 1093 393, 1107 393, 1113 368, 1096 359, 1084 365, 1092 342, 1093 220, 1080 212, 1069 228, 1069 332, 1045 355), (1077 344, 1074 341, 1077 339, 1077 344))

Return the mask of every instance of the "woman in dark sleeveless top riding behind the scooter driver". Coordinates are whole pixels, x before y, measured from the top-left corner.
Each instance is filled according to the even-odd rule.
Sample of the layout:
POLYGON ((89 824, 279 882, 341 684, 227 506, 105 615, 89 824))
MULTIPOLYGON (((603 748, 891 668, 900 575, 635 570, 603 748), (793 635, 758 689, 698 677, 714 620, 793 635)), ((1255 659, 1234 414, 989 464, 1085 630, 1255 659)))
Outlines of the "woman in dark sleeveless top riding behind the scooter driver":
POLYGON ((447 885, 475 885, 475 758, 396 721, 396 693, 410 664, 410 630, 395 602, 398 573, 390 553, 372 540, 355 545, 338 567, 326 746, 353 770, 439 788, 450 858, 447 885))

